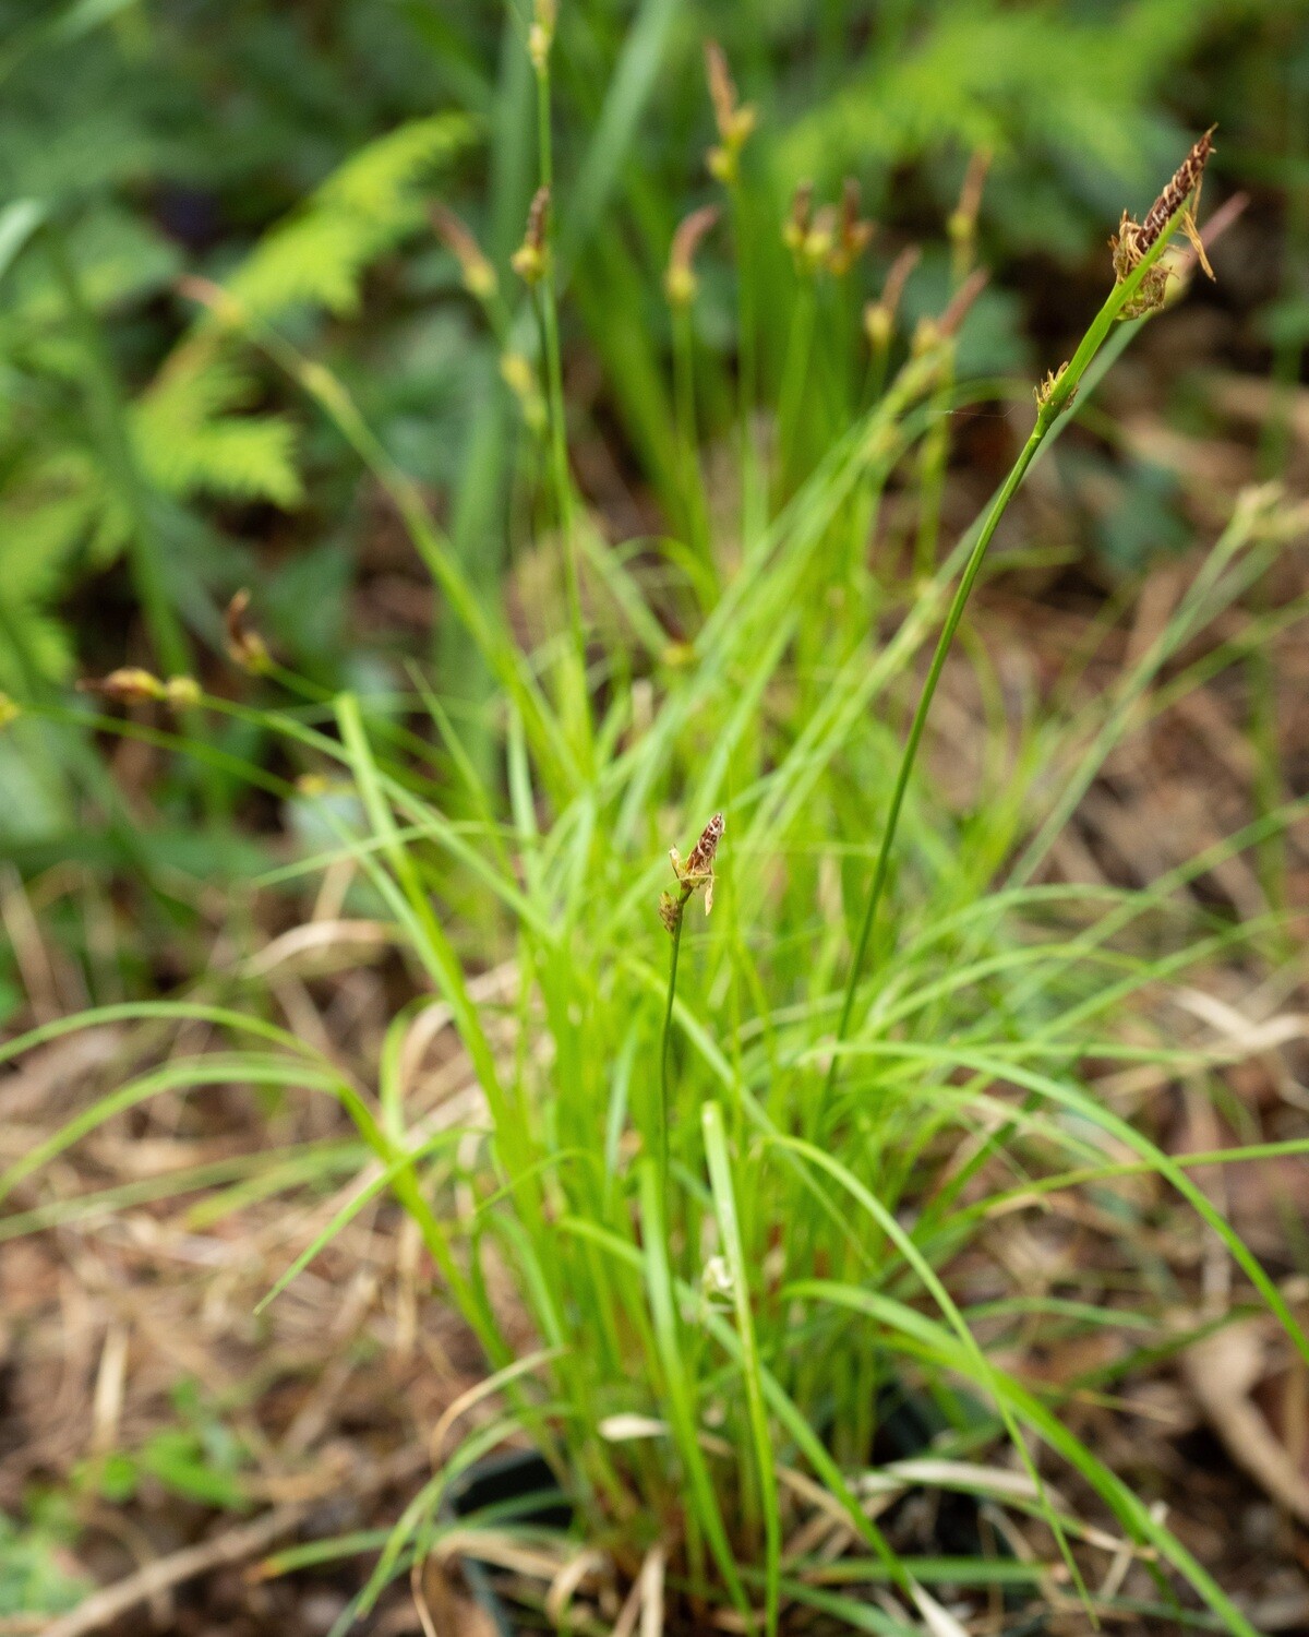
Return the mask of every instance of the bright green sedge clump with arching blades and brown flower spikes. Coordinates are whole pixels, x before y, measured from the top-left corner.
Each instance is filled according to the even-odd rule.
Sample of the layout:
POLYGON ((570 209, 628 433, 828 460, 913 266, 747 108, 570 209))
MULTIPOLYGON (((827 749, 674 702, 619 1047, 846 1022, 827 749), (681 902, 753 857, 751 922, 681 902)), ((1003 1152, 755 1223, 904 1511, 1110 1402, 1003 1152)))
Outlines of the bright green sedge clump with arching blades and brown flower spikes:
MULTIPOLYGON (((538 25, 548 20, 542 8, 538 25)), ((1304 517, 1273 493, 1252 494, 1109 694, 1088 697, 1070 681, 1067 697, 1023 699, 1014 748, 980 766, 967 823, 921 766, 947 670, 962 666, 987 694, 980 650, 959 660, 952 645, 996 527, 1075 395, 1093 391, 1131 326, 1168 293, 1165 257, 1191 228, 1206 154, 1198 144, 1145 221, 1119 229, 1114 286, 1039 390, 1013 470, 983 517, 911 583, 884 560, 852 571, 849 542, 852 519, 877 516, 897 473, 923 470, 951 352, 942 326, 897 349, 893 367, 879 331, 875 391, 807 475, 785 452, 772 481, 743 473, 758 530, 738 552, 712 534, 702 542, 713 576, 700 584, 697 627, 676 642, 638 557, 586 550, 591 525, 566 445, 560 460, 560 378, 547 360, 550 481, 578 552, 565 619, 584 624, 592 688, 584 732, 571 684, 543 688, 532 656, 471 596, 448 540, 340 383, 277 332, 252 334, 389 486, 466 619, 497 681, 483 728, 496 735, 502 781, 466 753, 422 678, 406 733, 440 750, 473 820, 450 817, 453 797, 412 740, 353 694, 245 702, 147 688, 157 707, 185 704, 277 737, 285 769, 247 773, 324 841, 260 886, 295 891, 349 869, 404 949, 416 1000, 367 1079, 273 1021, 249 964, 206 972, 172 1002, 100 1008, 10 1041, 5 1058, 106 1018, 203 1020, 224 1049, 169 1054, 10 1167, 0 1192, 20 1210, 0 1231, 92 1208, 43 1197, 46 1164, 162 1090, 242 1080, 340 1105, 357 1136, 357 1185, 270 1298, 389 1193, 417 1224, 440 1300, 481 1344, 488 1380, 452 1406, 430 1481, 339 1630, 434 1554, 457 1545, 502 1563, 530 1545, 547 1568, 515 1593, 561 1629, 633 1630, 645 1619, 772 1637, 821 1616, 872 1632, 946 1632, 957 1617, 942 1585, 977 1609, 995 1588, 1032 1609, 1062 1588, 1086 1617, 1113 1619, 1127 1604, 1122 1576, 1104 1568, 1126 1554, 1152 1588, 1144 1604, 1134 1593, 1137 1617, 1163 1629, 1201 1608, 1253 1637, 1131 1477, 1073 1431, 1065 1409, 1082 1383, 1026 1380, 1013 1349, 1018 1337, 1113 1337, 1113 1362, 1095 1378, 1104 1395, 1140 1359, 1201 1334, 1212 1319, 1198 1306, 1178 1324, 1194 1298, 1186 1270, 1155 1265, 1147 1280, 1132 1236, 1152 1211, 1185 1208, 1309 1357, 1276 1280, 1191 1175, 1306 1152, 1309 1139, 1181 1161, 1158 1144, 1149 1110, 1085 1067, 1203 1077, 1245 1049, 1180 1035, 1168 992, 1235 954, 1263 959, 1273 918, 1234 925, 1188 886, 1286 830, 1304 804, 1262 815, 1147 889, 1041 876, 1068 817, 1065 794, 1088 786, 1150 707, 1240 658, 1226 637, 1193 656, 1304 517), (1124 314, 1136 316, 1119 324, 1124 314), (900 745, 897 706, 915 697, 928 648, 900 745), (1165 668, 1183 655, 1165 689, 1165 668), (666 850, 681 832, 699 840, 686 861, 672 855, 669 884, 666 850), (879 940, 884 918, 895 935, 879 940), (430 1079, 406 1048, 439 1036, 443 1069, 430 1079), (1037 1295, 1016 1282, 998 1295, 993 1280, 978 1288, 977 1262, 1014 1213, 1077 1188, 1113 1197, 1122 1226, 1101 1236, 1096 1259, 1037 1295), (535 1333, 527 1352, 512 1341, 524 1316, 535 1333), (893 1447, 906 1403, 929 1429, 926 1454, 893 1447), (455 1537, 443 1503, 479 1459, 515 1444, 550 1463, 571 1527, 545 1529, 509 1506, 463 1519, 455 1537), (1003 1519, 996 1539, 1023 1552, 978 1532, 972 1550, 942 1555, 893 1509, 913 1490, 972 1496, 1003 1519)), ((211 293, 211 306, 234 329, 245 322, 236 303, 211 293)), ((550 352, 550 321, 542 339, 550 352)), ((761 458, 749 429, 741 450, 746 463, 761 458)), ((689 465, 682 473, 699 483, 689 465)), ((697 496, 682 504, 697 525, 697 496)), ((1273 614, 1263 617, 1268 629, 1273 614)), ((95 725, 188 745, 157 722, 106 714, 95 725)), ((337 1148, 334 1179, 340 1161, 337 1148)), ((316 1560, 327 1550, 316 1544, 316 1560)), ((291 1550, 270 1568, 298 1560, 291 1550)))

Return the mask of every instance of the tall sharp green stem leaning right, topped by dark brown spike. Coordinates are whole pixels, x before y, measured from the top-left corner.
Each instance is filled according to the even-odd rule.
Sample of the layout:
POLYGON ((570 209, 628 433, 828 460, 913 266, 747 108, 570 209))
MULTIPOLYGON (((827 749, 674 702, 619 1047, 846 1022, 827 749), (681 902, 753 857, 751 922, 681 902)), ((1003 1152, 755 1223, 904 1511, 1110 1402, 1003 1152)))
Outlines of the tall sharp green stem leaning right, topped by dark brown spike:
POLYGON ((931 666, 928 668, 926 681, 923 683, 923 691, 918 697, 918 707, 913 712, 913 722, 910 724, 908 738, 905 740, 905 748, 900 756, 900 768, 895 774, 895 786, 892 789, 890 809, 887 812, 887 823, 882 832, 882 843, 877 850, 877 861, 872 871, 872 886, 869 887, 867 902, 864 905, 864 918, 859 927, 859 936, 854 945, 854 958, 851 959, 849 976, 846 979, 846 989, 841 1000, 841 1017, 836 1025, 836 1039, 833 1043, 831 1061, 828 1062, 825 1097, 831 1094, 836 1084, 836 1072, 839 1064, 839 1044, 846 1039, 849 1033, 851 1017, 854 1013, 854 995, 859 989, 859 981, 864 972, 864 961, 867 958, 869 941, 872 938, 874 927, 877 923, 877 910, 882 904, 882 894, 887 884, 887 874, 890 871, 892 848, 895 846, 895 833, 900 823, 900 810, 905 804, 905 792, 908 789, 910 776, 913 774, 913 764, 918 758, 918 746, 923 740, 923 730, 928 722, 928 712, 931 710, 931 701, 936 694, 936 684, 941 681, 941 671, 946 666, 946 658, 954 642, 954 634, 959 629, 959 622, 964 617, 964 609, 967 606, 972 588, 982 571, 982 563, 987 557, 987 548, 992 543, 995 530, 1000 519, 1005 516, 1010 501, 1018 493, 1023 478, 1028 475, 1028 468, 1036 458, 1037 450, 1046 442, 1050 427, 1055 424, 1059 416, 1068 408, 1068 403, 1077 391, 1078 381, 1086 373, 1095 355, 1104 344, 1114 321, 1124 309, 1131 304, 1132 298, 1140 290, 1142 283, 1149 278, 1150 270, 1158 262, 1163 254, 1165 246, 1172 239, 1173 232, 1181 224, 1181 218, 1186 210, 1186 198, 1183 196, 1181 205, 1173 210, 1167 224, 1160 229, 1158 237, 1154 241, 1147 254, 1140 259, 1136 268, 1121 283, 1114 285, 1109 291, 1104 306, 1096 314, 1086 334, 1082 337, 1082 344, 1073 354, 1072 360, 1049 381, 1049 385, 1037 395, 1037 414, 1036 426, 1032 427, 1031 437, 1023 445, 1023 452, 1013 465, 1013 470, 1005 478, 1005 483, 996 494, 990 512, 987 514, 982 530, 977 535, 977 542, 969 555, 969 561, 964 566, 964 573, 951 599, 949 611, 946 612, 946 622, 941 627, 941 635, 936 642, 936 652, 931 658, 931 666))

